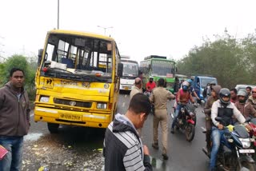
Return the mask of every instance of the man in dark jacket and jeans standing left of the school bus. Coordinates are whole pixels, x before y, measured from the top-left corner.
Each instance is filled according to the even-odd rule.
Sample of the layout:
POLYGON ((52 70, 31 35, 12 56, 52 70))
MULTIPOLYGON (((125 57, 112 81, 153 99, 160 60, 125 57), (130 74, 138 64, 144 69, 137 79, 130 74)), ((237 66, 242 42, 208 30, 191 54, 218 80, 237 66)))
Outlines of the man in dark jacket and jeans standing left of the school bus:
POLYGON ((10 82, 0 89, 0 145, 8 153, 0 160, 1 171, 21 170, 23 136, 30 128, 30 101, 23 87, 24 72, 10 70, 10 82))

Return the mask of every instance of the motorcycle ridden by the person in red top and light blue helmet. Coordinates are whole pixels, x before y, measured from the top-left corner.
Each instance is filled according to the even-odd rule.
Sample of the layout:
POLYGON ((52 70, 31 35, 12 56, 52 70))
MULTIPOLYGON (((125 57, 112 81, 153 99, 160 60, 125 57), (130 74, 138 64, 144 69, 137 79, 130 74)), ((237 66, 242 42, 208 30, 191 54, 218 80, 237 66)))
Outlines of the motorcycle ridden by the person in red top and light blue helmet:
MULTIPOLYGON (((174 119, 173 114, 171 114, 171 117, 174 119)), ((186 141, 192 141, 196 124, 195 106, 190 103, 182 105, 174 124, 174 129, 185 130, 186 141)))

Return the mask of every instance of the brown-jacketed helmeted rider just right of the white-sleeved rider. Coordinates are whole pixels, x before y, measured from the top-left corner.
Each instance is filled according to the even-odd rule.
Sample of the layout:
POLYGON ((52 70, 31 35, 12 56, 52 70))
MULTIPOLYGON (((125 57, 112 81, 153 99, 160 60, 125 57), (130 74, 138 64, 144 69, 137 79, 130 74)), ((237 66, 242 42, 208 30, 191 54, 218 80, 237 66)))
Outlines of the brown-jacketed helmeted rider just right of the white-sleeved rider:
MULTIPOLYGON (((254 106, 250 104, 247 100, 247 92, 244 89, 238 91, 238 101, 234 105, 242 113, 244 117, 256 117, 256 110, 254 106)), ((234 120, 235 122, 236 120, 234 120)))

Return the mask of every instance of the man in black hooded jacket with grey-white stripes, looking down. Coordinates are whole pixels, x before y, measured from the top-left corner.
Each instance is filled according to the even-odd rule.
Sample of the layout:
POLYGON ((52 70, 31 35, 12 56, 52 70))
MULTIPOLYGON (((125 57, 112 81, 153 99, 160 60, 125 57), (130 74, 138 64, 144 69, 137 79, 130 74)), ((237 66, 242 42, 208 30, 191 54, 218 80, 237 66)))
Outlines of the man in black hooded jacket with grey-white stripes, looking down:
POLYGON ((152 170, 150 153, 138 136, 136 129, 142 128, 150 113, 149 98, 136 93, 130 100, 125 115, 116 114, 106 129, 103 156, 105 170, 152 170))

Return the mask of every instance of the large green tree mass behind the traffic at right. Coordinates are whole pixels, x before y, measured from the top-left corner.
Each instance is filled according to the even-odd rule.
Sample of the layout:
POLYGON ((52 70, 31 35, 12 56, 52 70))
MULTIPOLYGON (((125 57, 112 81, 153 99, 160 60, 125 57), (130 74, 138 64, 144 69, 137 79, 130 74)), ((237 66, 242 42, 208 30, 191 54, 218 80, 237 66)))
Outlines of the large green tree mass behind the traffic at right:
POLYGON ((216 40, 205 40, 202 46, 195 46, 189 54, 178 61, 182 74, 206 74, 218 79, 222 87, 234 88, 237 84, 255 84, 250 79, 256 71, 256 38, 236 39, 227 30, 216 40))

